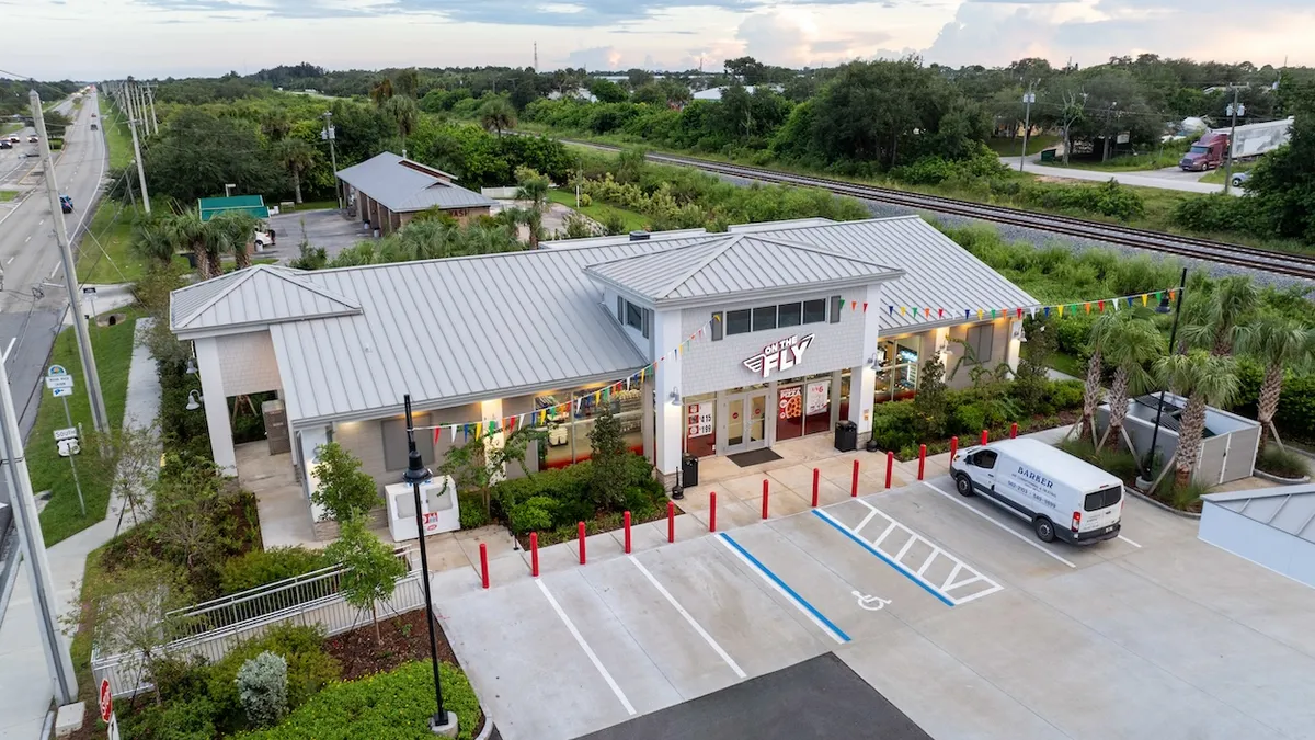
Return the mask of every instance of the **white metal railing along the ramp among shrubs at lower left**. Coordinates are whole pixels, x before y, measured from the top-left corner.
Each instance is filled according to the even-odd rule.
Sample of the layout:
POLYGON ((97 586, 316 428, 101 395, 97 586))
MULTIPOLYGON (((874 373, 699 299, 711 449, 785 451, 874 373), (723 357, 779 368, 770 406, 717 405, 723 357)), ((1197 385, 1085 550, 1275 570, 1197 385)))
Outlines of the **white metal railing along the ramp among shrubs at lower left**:
MULTIPOLYGON (((405 554, 400 554, 398 557, 405 557, 405 554)), ((325 569, 260 589, 252 589, 243 594, 197 604, 184 614, 189 618, 203 620, 217 615, 243 615, 243 618, 234 619, 222 627, 204 632, 199 631, 175 640, 160 648, 159 652, 170 657, 204 656, 205 660, 214 662, 227 654, 234 645, 252 637, 259 637, 271 627, 280 624, 320 625, 325 635, 339 635, 370 624, 370 611, 362 612, 362 610, 350 606, 337 593, 338 577, 341 574, 341 568, 325 569), (326 594, 316 595, 318 593, 326 594), (299 595, 309 595, 312 598, 299 602, 299 595), (258 610, 258 607, 252 606, 255 602, 276 604, 279 600, 287 600, 291 604, 264 611, 256 616, 245 616, 258 610)), ((421 582, 421 571, 412 570, 397 579, 397 587, 393 590, 392 598, 380 602, 377 612, 381 619, 387 619, 422 606, 425 606, 425 585, 421 582)), ((205 624, 205 621, 200 621, 199 624, 205 624)), ((147 681, 142 666, 142 656, 138 652, 103 656, 96 648, 92 648, 91 672, 97 686, 101 678, 109 679, 109 690, 116 698, 133 697, 151 689, 151 683, 147 681)))

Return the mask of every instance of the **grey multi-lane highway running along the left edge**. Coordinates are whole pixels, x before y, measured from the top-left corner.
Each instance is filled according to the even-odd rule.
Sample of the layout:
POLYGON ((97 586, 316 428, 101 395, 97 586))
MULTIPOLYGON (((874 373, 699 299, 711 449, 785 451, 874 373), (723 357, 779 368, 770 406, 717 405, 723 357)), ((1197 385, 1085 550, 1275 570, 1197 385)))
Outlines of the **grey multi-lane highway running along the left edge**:
MULTIPOLYGON (((37 146, 28 144, 32 129, 21 132, 22 141, 14 149, 0 150, 0 188, 18 191, 16 199, 0 203, 0 352, 25 436, 37 413, 37 383, 68 307, 55 219, 64 219, 76 246, 91 224, 108 166, 103 132, 91 130, 91 124, 99 121, 92 117, 97 108, 95 93, 84 96, 76 111, 71 100, 57 108, 75 116, 64 132, 63 149, 54 153, 60 192, 74 201, 74 212, 67 216, 50 212, 45 169, 38 157, 26 157, 37 146)), ((78 382, 80 386, 82 378, 78 382)))

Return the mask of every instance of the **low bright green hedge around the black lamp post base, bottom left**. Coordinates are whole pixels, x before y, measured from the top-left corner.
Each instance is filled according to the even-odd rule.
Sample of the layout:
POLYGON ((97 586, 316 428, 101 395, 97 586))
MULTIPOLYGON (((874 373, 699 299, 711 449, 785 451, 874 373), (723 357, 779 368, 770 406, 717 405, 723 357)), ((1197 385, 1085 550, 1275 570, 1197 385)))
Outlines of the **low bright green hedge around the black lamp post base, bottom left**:
MULTIPOLYGON (((443 704, 456 712, 459 735, 469 739, 480 703, 460 669, 439 664, 443 704)), ((242 733, 246 740, 429 740, 434 714, 434 674, 430 664, 409 662, 389 673, 334 683, 293 711, 277 726, 242 733)))

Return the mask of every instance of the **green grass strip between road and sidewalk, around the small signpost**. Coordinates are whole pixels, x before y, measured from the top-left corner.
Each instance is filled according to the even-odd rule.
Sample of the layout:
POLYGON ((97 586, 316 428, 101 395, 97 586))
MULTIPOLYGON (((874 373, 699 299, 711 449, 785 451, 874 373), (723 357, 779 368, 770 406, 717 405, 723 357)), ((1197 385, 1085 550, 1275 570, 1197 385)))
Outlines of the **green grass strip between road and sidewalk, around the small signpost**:
MULTIPOLYGON (((105 411, 109 424, 114 428, 124 421, 124 403, 128 400, 128 367, 133 358, 133 329, 137 313, 128 309, 128 320, 114 327, 91 325, 91 345, 96 353, 96 369, 100 373, 100 387, 105 394, 105 411)), ((91 406, 87 402, 87 383, 83 379, 82 362, 78 358, 78 341, 72 328, 67 328, 55 338, 50 362, 63 365, 72 375, 75 390, 68 398, 68 411, 74 424, 92 429, 91 406)), ((105 519, 109 507, 109 481, 97 479, 87 470, 79 474, 83 498, 87 502, 87 515, 78 507, 78 490, 68 460, 59 457, 54 444, 54 431, 68 425, 64 419, 64 406, 50 396, 45 387, 39 388, 41 406, 37 408, 37 423, 32 428, 28 445, 28 470, 32 474, 34 491, 51 492, 50 503, 41 512, 41 531, 46 546, 71 535, 82 532, 105 519)), ((78 462, 87 458, 83 453, 78 462)))

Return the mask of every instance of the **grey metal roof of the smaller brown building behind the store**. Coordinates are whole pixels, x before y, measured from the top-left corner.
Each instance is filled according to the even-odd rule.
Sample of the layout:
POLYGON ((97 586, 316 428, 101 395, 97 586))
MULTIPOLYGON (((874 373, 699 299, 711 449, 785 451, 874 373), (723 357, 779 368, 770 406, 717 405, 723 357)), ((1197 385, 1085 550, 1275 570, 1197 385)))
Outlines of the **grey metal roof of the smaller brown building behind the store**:
POLYGON ((477 208, 493 205, 490 198, 466 190, 451 180, 456 178, 419 162, 384 151, 338 171, 338 178, 394 213, 439 208, 477 208))

